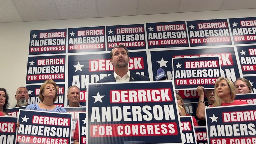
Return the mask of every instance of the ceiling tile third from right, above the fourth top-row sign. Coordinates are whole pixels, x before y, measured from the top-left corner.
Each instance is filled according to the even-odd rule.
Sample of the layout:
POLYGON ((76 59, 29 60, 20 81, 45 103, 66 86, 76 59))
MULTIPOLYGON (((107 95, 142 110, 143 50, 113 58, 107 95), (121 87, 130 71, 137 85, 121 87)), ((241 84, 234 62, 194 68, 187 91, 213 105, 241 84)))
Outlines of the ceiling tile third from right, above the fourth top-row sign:
POLYGON ((176 13, 177 0, 139 0, 138 15, 176 13))

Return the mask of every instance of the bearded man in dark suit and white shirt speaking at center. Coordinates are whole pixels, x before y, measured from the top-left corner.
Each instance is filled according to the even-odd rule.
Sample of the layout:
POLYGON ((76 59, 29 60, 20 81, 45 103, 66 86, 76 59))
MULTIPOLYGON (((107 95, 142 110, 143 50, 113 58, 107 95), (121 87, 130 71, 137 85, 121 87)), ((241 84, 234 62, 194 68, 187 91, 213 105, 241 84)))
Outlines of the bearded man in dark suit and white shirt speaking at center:
POLYGON ((130 62, 129 51, 123 45, 115 46, 111 50, 110 62, 114 66, 113 73, 97 81, 97 83, 150 81, 149 77, 135 74, 128 69, 128 63, 130 62))

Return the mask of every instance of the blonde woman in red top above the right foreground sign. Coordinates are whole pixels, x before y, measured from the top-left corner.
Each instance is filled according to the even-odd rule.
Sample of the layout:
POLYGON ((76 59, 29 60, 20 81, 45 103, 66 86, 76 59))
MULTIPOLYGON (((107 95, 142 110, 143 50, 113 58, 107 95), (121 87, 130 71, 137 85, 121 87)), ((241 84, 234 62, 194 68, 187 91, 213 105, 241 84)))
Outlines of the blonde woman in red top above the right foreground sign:
MULTIPOLYGON (((219 77, 215 86, 215 102, 212 107, 248 104, 246 101, 234 100, 236 98, 234 83, 225 77, 219 77)), ((210 107, 211 107, 210 106, 210 107)))

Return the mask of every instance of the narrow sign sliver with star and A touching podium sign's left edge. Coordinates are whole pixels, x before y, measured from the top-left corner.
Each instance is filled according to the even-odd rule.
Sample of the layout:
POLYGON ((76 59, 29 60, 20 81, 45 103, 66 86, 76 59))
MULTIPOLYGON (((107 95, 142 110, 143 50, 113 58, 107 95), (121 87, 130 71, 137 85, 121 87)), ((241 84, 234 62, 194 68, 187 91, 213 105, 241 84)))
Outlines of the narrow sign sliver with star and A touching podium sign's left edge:
POLYGON ((86 113, 79 112, 79 142, 81 144, 86 144, 86 135, 87 135, 87 128, 86 128, 86 113))

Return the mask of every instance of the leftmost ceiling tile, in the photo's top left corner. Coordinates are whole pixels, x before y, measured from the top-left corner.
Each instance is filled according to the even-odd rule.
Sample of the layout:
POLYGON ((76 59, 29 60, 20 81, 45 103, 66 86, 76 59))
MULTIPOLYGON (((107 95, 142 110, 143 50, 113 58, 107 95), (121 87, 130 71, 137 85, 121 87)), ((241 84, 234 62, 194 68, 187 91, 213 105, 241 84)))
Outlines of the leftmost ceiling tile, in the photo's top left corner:
POLYGON ((2 0, 0 4, 0 23, 24 22, 12 0, 2 0))

